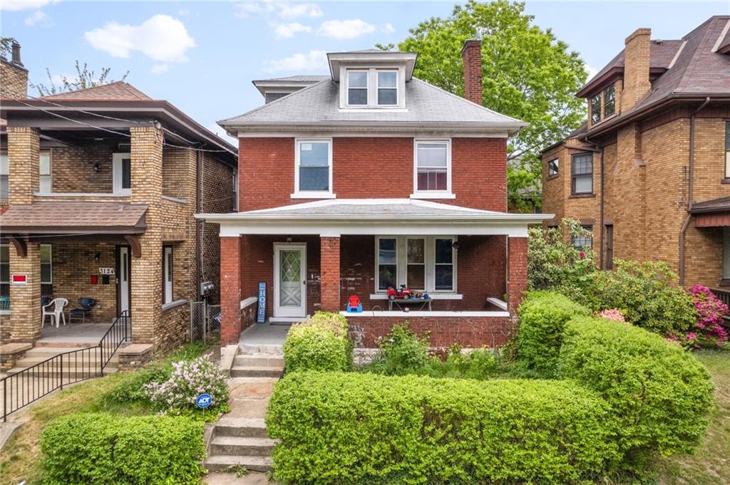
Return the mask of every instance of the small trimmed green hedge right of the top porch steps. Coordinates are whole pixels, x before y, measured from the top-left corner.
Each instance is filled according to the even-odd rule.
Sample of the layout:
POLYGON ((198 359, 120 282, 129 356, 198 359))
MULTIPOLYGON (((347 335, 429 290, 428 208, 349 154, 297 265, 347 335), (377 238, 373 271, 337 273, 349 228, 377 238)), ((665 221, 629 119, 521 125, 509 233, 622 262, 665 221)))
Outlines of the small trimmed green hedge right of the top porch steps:
POLYGON ((353 361, 353 344, 347 338, 347 319, 318 311, 310 319, 292 325, 283 350, 287 372, 348 370, 353 361))

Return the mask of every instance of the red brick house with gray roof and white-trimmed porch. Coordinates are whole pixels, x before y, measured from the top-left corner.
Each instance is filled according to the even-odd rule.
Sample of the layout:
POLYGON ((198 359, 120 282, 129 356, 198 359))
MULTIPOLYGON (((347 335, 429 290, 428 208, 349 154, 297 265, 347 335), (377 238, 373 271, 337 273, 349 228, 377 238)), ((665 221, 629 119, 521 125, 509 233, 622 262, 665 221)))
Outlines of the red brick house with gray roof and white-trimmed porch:
POLYGON ((507 213, 507 137, 525 123, 481 106, 480 43, 466 99, 412 77, 415 53, 330 53, 331 74, 255 81, 266 104, 219 124, 239 138, 239 211, 220 224, 222 344, 254 321, 345 311, 373 346, 396 322, 431 344, 495 345, 526 289, 527 228, 507 213), (431 310, 388 310, 388 287, 431 310), (397 311, 396 311, 397 310, 397 311))

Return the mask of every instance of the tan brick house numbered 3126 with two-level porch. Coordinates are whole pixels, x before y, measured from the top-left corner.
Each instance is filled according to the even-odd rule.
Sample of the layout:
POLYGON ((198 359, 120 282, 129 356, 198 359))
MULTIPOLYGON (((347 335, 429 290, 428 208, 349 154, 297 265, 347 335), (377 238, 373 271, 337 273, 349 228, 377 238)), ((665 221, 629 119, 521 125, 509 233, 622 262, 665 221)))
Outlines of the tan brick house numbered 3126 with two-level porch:
POLYGON ((126 82, 31 98, 19 52, 1 77, 1 340, 39 338, 42 298, 94 298, 135 343, 185 341, 220 274, 218 227, 193 214, 234 209, 234 147, 126 82))

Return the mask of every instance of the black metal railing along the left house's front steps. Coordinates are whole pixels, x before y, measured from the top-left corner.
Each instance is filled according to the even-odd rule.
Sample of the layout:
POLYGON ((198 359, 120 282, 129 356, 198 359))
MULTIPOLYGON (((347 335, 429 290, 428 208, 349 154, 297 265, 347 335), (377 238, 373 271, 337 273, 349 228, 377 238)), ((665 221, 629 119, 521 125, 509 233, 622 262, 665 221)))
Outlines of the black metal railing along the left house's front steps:
POLYGON ((104 376, 104 368, 119 346, 131 340, 130 326, 129 311, 123 311, 104 333, 99 345, 56 354, 2 379, 3 422, 7 421, 10 414, 56 389, 104 376))

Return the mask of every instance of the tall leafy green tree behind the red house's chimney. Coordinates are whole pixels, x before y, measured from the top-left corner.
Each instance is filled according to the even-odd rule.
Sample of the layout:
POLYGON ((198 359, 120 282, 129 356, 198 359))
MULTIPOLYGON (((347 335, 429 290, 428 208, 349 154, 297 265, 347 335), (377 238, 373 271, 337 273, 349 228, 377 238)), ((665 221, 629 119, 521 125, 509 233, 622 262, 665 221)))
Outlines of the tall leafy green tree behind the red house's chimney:
POLYGON ((430 18, 411 28, 398 45, 418 53, 416 77, 463 96, 461 47, 467 39, 481 39, 483 105, 530 123, 508 147, 507 192, 520 210, 529 209, 540 191, 539 150, 585 118, 583 103, 573 94, 588 75, 580 55, 549 28, 533 25, 524 9, 524 3, 469 0, 456 5, 448 18, 430 18))

